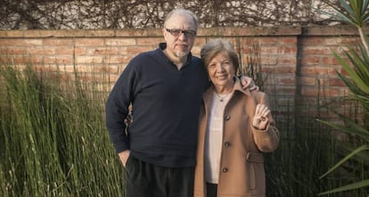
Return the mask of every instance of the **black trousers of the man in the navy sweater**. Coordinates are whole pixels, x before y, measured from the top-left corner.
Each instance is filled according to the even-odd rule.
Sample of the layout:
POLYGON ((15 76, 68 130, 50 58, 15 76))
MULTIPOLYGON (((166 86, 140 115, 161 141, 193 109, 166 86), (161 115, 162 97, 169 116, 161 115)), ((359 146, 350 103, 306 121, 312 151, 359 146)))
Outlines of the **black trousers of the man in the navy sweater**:
POLYGON ((126 197, 193 197, 194 168, 165 168, 129 156, 126 197))

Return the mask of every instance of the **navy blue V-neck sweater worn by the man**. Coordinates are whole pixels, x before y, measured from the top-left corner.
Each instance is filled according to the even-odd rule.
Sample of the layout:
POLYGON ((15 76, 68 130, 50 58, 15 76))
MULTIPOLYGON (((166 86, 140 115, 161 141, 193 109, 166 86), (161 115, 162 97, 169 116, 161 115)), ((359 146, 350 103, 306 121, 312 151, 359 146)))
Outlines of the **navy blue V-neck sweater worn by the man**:
POLYGON ((106 102, 106 127, 116 152, 163 167, 193 167, 201 96, 208 75, 191 53, 181 70, 160 48, 138 54, 122 72, 106 102), (126 135, 124 119, 133 106, 126 135))

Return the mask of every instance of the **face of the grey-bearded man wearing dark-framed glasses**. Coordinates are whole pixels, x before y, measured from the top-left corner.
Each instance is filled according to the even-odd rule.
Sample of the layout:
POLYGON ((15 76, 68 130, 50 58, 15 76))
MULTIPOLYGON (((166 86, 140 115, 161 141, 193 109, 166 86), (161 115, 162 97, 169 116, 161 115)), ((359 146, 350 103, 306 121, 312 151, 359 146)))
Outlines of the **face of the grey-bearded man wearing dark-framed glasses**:
POLYGON ((173 15, 163 29, 164 39, 167 42, 167 53, 176 58, 187 56, 193 48, 196 30, 191 17, 182 14, 173 15))

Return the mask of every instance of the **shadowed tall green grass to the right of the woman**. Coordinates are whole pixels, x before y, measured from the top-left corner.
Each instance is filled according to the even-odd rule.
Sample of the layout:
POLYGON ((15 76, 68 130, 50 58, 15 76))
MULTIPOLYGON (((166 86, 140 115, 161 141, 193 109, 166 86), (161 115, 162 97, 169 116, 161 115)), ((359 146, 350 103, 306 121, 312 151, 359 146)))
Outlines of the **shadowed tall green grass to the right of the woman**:
MULTIPOLYGON (((298 100, 304 98, 299 97, 298 100)), ((327 168, 331 168, 345 157, 344 152, 348 152, 348 149, 342 149, 342 135, 339 135, 337 129, 321 124, 316 119, 327 118, 327 114, 330 113, 333 121, 335 119, 333 113, 338 109, 350 114, 351 117, 356 116, 353 109, 360 108, 359 104, 348 100, 346 96, 333 100, 320 95, 316 101, 306 100, 302 103, 307 105, 296 107, 293 111, 273 114, 281 141, 275 152, 266 154, 266 196, 318 196, 331 188, 357 180, 357 177, 352 176, 354 173, 358 177, 367 176, 361 173, 367 170, 364 169, 364 165, 361 166, 363 169, 360 169, 355 168, 357 163, 349 163, 331 176, 321 178, 327 168)), ((272 104, 273 106, 277 105, 272 104)), ((273 111, 278 111, 277 108, 273 111)), ((357 144, 356 140, 357 138, 351 138, 349 143, 357 144)), ((330 193, 327 196, 366 197, 367 188, 345 193, 330 193)))

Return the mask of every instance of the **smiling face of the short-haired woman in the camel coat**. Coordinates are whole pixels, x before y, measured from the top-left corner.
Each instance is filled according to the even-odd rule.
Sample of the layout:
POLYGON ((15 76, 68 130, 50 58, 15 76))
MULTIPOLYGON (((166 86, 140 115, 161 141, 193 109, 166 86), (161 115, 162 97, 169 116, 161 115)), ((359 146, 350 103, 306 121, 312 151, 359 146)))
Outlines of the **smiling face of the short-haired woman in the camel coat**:
POLYGON ((207 66, 209 78, 214 86, 233 86, 234 85, 234 65, 228 53, 221 52, 210 60, 207 66))

